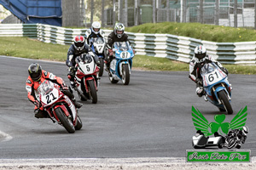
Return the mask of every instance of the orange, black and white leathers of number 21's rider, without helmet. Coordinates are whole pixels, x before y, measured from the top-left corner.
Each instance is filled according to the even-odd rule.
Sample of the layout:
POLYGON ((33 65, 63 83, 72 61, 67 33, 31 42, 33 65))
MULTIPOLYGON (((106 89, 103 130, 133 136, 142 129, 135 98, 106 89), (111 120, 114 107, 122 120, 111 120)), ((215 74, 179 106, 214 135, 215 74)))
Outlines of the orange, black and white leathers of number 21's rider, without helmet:
POLYGON ((37 118, 44 118, 44 117, 49 117, 48 113, 44 111, 44 108, 41 105, 41 102, 37 98, 38 96, 38 87, 41 84, 41 82, 44 82, 45 80, 49 80, 50 82, 54 82, 58 84, 61 87, 61 92, 69 99, 72 99, 74 102, 74 105, 77 108, 80 108, 82 104, 79 104, 73 94, 68 90, 67 85, 65 82, 62 80, 61 77, 56 77, 54 74, 42 70, 42 77, 38 82, 34 82, 32 78, 29 76, 27 77, 26 80, 26 91, 27 91, 27 98, 35 105, 34 111, 35 111, 35 116, 37 118))

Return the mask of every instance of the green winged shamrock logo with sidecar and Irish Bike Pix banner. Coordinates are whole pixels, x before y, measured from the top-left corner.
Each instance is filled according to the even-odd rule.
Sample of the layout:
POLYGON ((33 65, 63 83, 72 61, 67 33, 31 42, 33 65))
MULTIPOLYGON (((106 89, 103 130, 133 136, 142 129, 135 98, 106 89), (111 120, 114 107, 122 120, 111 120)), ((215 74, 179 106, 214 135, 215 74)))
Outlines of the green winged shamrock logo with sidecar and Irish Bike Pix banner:
POLYGON ((194 106, 191 115, 196 130, 195 136, 192 137, 192 146, 197 150, 187 150, 187 161, 250 161, 250 150, 239 150, 241 145, 245 144, 249 132, 246 126, 247 106, 230 122, 224 122, 224 114, 215 115, 215 122, 208 122, 194 106), (201 150, 205 148, 215 150, 201 150), (228 150, 216 150, 217 148, 228 150))

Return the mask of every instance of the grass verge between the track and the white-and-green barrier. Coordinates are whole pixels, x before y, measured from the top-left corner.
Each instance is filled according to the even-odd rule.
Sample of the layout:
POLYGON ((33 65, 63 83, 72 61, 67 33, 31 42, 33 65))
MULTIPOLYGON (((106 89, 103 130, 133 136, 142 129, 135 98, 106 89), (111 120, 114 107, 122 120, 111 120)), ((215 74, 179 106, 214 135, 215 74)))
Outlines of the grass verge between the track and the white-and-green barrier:
MULTIPOLYGON (((39 42, 28 37, 0 37, 0 55, 65 61, 69 45, 39 42)), ((224 65, 233 74, 256 74, 254 65, 224 65)), ((133 67, 150 71, 189 71, 189 64, 165 58, 136 55, 133 67)))

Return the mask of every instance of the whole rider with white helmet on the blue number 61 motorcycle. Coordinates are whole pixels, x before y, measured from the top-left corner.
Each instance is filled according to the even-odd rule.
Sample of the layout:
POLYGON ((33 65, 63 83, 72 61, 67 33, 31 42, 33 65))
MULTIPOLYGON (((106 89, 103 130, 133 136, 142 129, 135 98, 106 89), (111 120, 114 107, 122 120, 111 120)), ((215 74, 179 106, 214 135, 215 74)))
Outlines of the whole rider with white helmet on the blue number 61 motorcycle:
MULTIPOLYGON (((218 61, 213 59, 211 56, 207 54, 207 49, 202 45, 199 45, 195 48, 195 54, 193 58, 189 62, 189 78, 196 83, 195 94, 199 97, 205 95, 205 91, 202 85, 202 77, 201 77, 201 68, 206 63, 215 63, 218 67, 224 71, 226 75, 228 75, 227 69, 223 67, 218 61)), ((207 101, 207 97, 205 96, 205 100, 207 101)))

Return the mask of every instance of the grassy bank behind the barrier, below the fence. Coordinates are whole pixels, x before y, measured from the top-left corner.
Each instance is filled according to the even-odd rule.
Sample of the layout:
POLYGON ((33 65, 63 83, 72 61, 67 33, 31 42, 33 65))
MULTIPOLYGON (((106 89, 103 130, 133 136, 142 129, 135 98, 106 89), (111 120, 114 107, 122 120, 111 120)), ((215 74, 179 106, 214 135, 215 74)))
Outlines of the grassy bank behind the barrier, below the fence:
POLYGON ((125 28, 125 31, 139 33, 163 33, 211 42, 250 42, 256 41, 256 30, 250 28, 233 28, 229 26, 212 26, 200 23, 148 23, 125 28))

